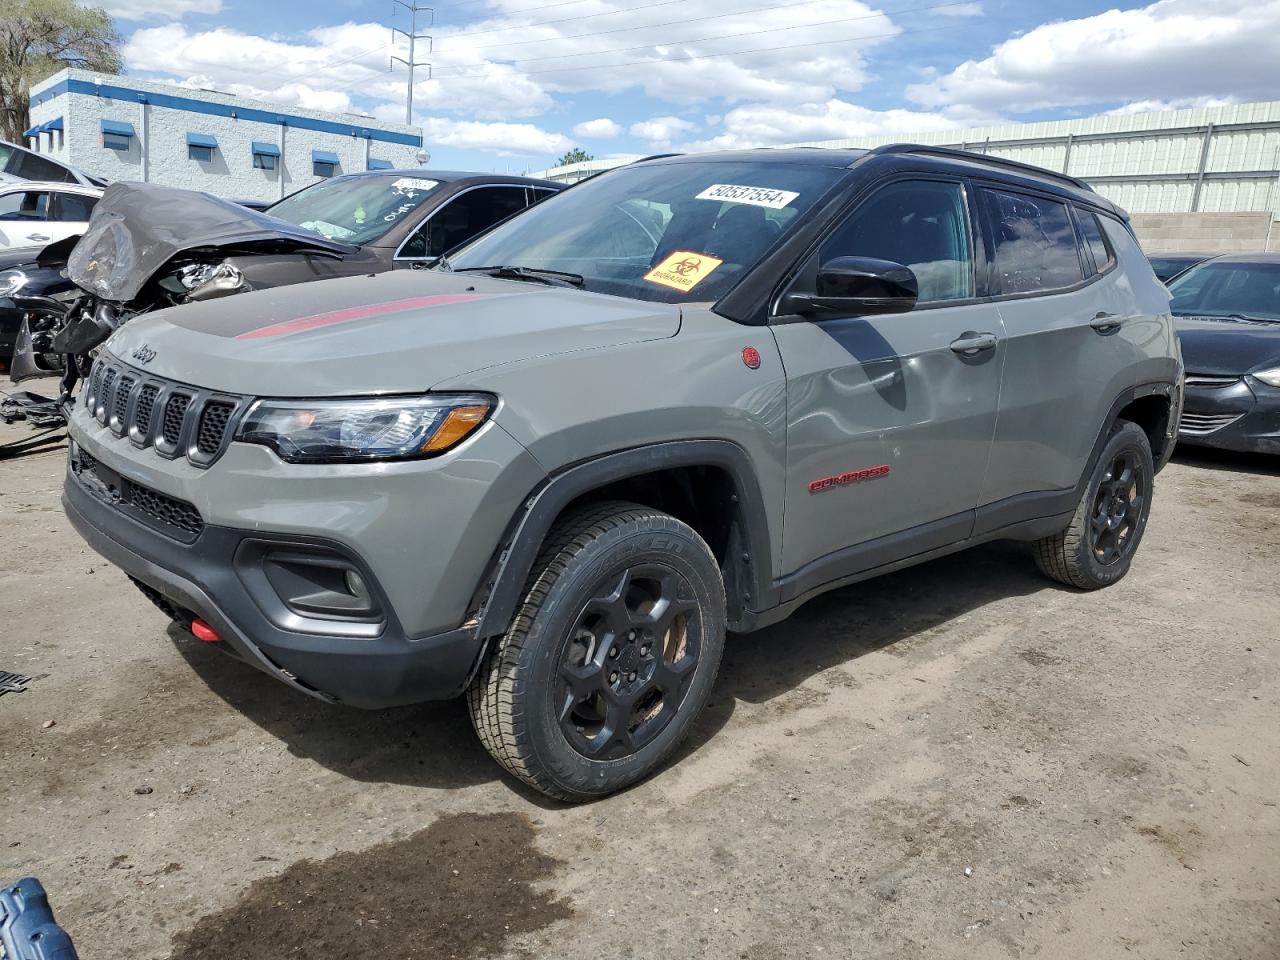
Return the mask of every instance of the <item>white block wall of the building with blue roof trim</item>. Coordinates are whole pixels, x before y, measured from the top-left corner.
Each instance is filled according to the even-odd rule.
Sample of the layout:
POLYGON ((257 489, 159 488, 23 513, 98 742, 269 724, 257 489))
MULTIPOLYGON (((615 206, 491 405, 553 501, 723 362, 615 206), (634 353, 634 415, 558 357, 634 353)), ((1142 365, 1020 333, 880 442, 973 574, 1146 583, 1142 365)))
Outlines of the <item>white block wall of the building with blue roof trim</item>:
POLYGON ((146 180, 234 200, 274 201, 315 183, 312 150, 337 154, 335 174, 343 174, 366 170, 370 159, 416 169, 422 145, 421 129, 406 124, 76 69, 32 90, 32 124, 56 116, 64 129, 41 134, 41 152, 108 180, 146 180), (102 120, 133 125, 128 150, 102 146, 102 120), (187 133, 218 141, 211 160, 189 157, 187 133), (280 148, 276 169, 253 166, 255 141, 280 148))

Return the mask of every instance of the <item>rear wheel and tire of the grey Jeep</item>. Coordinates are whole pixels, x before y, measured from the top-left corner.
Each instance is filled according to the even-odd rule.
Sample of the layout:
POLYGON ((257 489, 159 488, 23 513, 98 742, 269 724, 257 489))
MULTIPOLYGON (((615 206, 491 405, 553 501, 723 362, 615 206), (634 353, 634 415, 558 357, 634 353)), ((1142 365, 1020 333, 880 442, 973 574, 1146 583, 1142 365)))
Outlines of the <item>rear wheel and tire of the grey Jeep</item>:
POLYGON ((1155 475, 1147 434, 1137 424, 1119 421, 1070 526, 1036 541, 1041 572, 1080 590, 1110 586, 1128 573, 1151 516, 1155 475))

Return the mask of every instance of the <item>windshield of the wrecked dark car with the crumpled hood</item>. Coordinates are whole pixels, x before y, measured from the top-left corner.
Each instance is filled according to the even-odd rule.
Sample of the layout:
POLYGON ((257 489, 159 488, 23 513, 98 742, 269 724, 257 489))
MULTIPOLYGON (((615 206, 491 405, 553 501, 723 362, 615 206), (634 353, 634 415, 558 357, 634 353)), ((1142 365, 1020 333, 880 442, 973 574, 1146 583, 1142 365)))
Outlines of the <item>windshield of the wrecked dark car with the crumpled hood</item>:
POLYGON ((338 177, 300 189, 266 209, 292 224, 344 243, 372 243, 439 187, 425 177, 338 177))

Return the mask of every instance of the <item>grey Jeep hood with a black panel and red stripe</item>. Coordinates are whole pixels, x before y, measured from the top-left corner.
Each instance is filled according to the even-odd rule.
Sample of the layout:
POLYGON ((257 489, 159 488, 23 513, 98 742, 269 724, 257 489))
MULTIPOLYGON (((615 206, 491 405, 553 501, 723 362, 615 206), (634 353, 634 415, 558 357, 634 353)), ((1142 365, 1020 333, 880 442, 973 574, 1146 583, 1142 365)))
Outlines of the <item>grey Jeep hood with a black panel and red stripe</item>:
POLYGON ((106 348, 147 372, 266 397, 417 393, 486 367, 675 337, 680 310, 563 287, 394 270, 145 314, 106 348), (146 349, 143 349, 143 347, 146 349))

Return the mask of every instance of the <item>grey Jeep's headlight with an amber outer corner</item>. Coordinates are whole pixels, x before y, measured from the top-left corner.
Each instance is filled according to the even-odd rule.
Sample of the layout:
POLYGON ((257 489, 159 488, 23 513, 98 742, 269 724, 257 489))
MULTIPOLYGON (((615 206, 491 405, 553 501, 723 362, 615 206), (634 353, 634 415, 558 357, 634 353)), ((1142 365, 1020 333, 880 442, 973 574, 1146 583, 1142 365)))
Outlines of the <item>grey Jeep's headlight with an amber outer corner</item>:
POLYGON ((483 394, 383 399, 261 399, 237 439, 261 443, 291 463, 434 457, 475 433, 495 403, 483 394))

